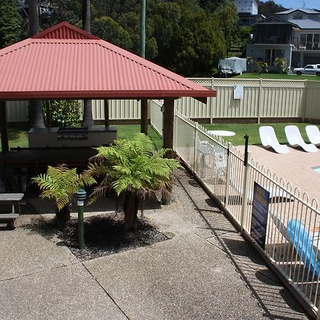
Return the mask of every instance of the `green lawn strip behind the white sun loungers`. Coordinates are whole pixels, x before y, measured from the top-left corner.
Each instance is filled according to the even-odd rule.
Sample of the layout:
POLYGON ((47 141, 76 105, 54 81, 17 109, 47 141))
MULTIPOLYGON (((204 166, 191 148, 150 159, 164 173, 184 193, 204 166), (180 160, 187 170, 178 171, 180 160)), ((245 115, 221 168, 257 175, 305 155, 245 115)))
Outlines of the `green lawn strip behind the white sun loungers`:
MULTIPOLYGON (((245 144, 245 134, 249 136, 249 144, 261 144, 259 137, 259 127, 272 126, 280 144, 287 144, 284 127, 293 124, 296 125, 302 134, 305 142, 309 142, 306 137, 306 130, 304 129, 308 123, 263 123, 263 124, 205 124, 204 127, 208 130, 228 130, 235 132, 233 137, 223 137, 234 146, 241 146, 245 144)), ((320 128, 320 125, 318 126, 320 128)))

